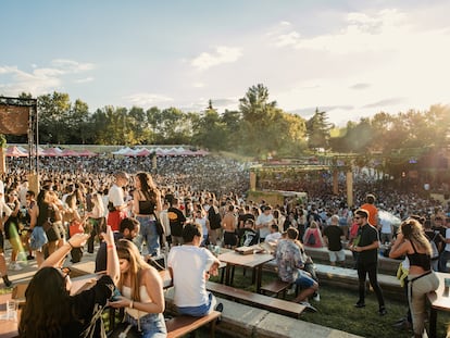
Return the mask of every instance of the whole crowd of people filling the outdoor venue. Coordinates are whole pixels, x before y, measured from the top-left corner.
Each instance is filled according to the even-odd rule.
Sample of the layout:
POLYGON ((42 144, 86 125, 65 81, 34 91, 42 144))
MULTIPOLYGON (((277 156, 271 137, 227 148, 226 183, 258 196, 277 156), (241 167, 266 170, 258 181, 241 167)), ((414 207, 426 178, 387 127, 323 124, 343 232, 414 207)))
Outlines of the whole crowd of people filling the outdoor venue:
MULTIPOLYGON (((432 238, 439 248, 436 268, 447 272, 450 259, 448 205, 420 197, 420 193, 398 193, 382 185, 377 187, 376 183, 370 186, 365 180, 355 184, 352 208, 347 206, 343 195, 332 193, 332 183, 327 179, 316 184, 302 183, 308 200, 286 198, 283 204, 270 205, 264 200, 246 199, 248 165, 224 158, 159 158, 155 166, 146 158, 48 158, 40 163, 41 189, 33 191, 25 178, 26 163, 20 159, 14 161, 13 165, 9 163, 10 170, 3 174, 0 186, 4 198, 1 204, 4 236, 13 248, 8 258, 9 265, 3 246, 0 248, 0 273, 4 285, 11 286, 8 268, 20 270, 21 260, 36 258, 41 272, 50 265, 61 267, 62 255, 67 253, 71 253, 72 262, 79 262, 86 252, 85 241, 88 254, 93 253, 98 243, 96 271, 109 271, 111 280, 123 295, 111 302, 112 306, 125 308, 126 321, 139 328, 142 326, 141 329, 149 333, 148 337, 164 336, 165 327, 161 315, 164 311, 162 287, 160 289, 159 277, 145 259, 158 256, 164 248, 176 247, 168 255, 168 268, 175 289, 178 288, 178 293, 175 290, 178 295, 176 305, 183 313, 197 315, 218 305, 204 289, 205 275, 216 274, 217 263, 204 249, 209 245, 235 248, 266 241, 274 246, 279 277, 300 286, 302 291, 296 301, 311 309, 314 308, 308 302, 309 298, 320 300, 318 280, 304 247, 327 247, 332 265, 343 264, 342 251, 348 247, 355 258, 354 267, 360 280, 355 306, 365 306, 368 275, 380 315, 387 310, 376 276, 379 238, 390 242, 392 256, 411 255, 411 265, 417 262, 414 254, 427 255, 429 252, 432 260, 429 243, 423 245, 421 237, 416 252, 414 240, 418 235, 415 239, 408 237, 405 224, 416 216, 424 226, 429 225, 432 233, 439 233, 432 238), (392 218, 380 217, 382 211, 392 218), (405 221, 395 224, 392 220, 405 221), (397 235, 397 227, 403 236, 397 235), (80 233, 89 236, 82 240, 80 233), (410 248, 403 242, 414 245, 410 248), (110 253, 112 249, 118 252, 117 258, 110 253), (184 272, 186 264, 179 264, 187 256, 198 262, 199 270, 192 275, 184 272), (118 272, 110 265, 110 258, 113 262, 117 260, 118 272), (183 278, 191 278, 192 285, 204 292, 191 298, 179 296, 186 293, 183 291, 186 285, 178 284, 179 274, 183 278), (158 285, 157 290, 150 285, 158 285)), ((2 242, 3 238, 0 238, 2 242)), ((422 271, 412 270, 411 277, 432 271, 432 264, 428 270, 428 265, 421 262, 417 265, 422 271)), ((411 292, 410 299, 417 335, 423 330, 421 311, 424 305, 413 296, 423 297, 424 290, 411 292)), ((102 299, 98 304, 102 306, 104 301, 102 299)), ((27 333, 26 337, 32 337, 27 326, 30 324, 25 321, 21 323, 21 329, 27 333)), ((61 323, 65 327, 73 325, 64 321, 61 323)))

